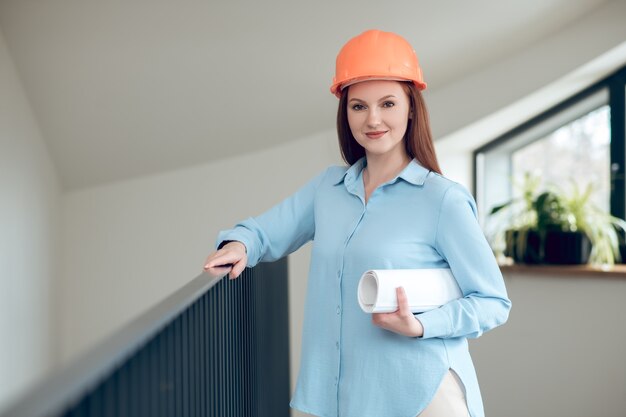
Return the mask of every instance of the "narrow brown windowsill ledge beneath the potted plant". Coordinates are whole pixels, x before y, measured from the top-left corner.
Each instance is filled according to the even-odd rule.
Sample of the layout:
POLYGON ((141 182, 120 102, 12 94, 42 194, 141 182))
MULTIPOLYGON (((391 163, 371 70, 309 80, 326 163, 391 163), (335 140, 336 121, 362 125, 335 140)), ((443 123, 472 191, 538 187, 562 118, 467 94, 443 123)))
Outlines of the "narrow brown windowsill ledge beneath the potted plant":
POLYGON ((626 265, 617 264, 611 268, 601 269, 591 265, 500 265, 502 273, 513 272, 523 275, 555 275, 563 278, 599 276, 606 278, 626 278, 626 265))

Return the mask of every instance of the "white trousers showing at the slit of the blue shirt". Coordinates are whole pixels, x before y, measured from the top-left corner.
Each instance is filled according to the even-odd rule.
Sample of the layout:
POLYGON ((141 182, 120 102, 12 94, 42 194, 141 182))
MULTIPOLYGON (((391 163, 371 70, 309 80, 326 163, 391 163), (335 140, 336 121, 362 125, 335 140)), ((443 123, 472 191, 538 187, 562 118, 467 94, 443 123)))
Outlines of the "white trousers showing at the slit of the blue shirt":
POLYGON ((469 417, 465 388, 456 372, 448 371, 433 400, 417 417, 469 417))

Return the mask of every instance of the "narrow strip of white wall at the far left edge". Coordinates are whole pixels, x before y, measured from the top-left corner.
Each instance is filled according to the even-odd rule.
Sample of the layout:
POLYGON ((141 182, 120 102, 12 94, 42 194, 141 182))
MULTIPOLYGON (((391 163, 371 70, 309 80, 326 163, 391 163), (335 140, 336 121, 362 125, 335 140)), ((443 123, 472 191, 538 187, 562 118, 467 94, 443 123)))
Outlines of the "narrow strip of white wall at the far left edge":
POLYGON ((0 408, 54 362, 59 185, 0 34, 0 408))

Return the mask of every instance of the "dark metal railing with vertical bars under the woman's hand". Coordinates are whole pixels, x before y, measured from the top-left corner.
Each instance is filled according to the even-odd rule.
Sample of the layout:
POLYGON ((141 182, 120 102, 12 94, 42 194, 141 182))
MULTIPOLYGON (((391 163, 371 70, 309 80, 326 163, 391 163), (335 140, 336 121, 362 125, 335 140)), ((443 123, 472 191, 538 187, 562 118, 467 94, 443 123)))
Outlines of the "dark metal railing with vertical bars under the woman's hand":
POLYGON ((202 274, 0 417, 289 415, 286 258, 202 274))

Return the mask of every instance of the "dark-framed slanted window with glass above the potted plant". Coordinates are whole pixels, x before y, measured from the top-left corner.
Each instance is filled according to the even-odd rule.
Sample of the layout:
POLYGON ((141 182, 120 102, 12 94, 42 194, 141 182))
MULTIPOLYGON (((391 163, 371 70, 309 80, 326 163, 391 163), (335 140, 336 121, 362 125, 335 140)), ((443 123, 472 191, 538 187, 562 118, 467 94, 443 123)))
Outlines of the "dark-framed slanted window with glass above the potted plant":
MULTIPOLYGON (((539 189, 569 192, 593 186, 596 205, 625 214, 626 68, 502 135, 474 152, 474 190, 480 221, 519 197, 525 175, 539 189)), ((489 236, 490 231, 486 230, 489 236)))

